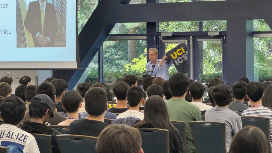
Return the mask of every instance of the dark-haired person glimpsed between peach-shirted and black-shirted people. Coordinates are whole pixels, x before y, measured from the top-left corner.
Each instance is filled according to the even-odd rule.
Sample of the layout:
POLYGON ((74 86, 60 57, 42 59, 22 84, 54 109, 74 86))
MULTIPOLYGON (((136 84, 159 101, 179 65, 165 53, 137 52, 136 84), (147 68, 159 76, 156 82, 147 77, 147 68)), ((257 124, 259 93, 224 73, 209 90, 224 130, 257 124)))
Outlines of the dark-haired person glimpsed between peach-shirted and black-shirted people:
POLYGON ((83 82, 79 83, 78 86, 75 88, 80 93, 80 96, 82 97, 82 107, 79 109, 80 113, 86 112, 85 111, 85 93, 90 89, 90 87, 94 85, 90 82, 83 82))

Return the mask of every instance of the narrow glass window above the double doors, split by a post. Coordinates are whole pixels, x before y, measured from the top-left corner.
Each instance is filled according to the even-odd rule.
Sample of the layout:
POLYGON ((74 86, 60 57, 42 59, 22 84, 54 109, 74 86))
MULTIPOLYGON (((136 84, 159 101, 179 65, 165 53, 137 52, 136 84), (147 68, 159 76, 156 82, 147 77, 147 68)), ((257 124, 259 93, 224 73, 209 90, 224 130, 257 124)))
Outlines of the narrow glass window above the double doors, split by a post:
MULTIPOLYGON (((227 22, 222 21, 203 21, 203 31, 226 31, 227 22)), ((186 22, 159 22, 159 32, 190 32, 199 31, 198 21, 186 22)))

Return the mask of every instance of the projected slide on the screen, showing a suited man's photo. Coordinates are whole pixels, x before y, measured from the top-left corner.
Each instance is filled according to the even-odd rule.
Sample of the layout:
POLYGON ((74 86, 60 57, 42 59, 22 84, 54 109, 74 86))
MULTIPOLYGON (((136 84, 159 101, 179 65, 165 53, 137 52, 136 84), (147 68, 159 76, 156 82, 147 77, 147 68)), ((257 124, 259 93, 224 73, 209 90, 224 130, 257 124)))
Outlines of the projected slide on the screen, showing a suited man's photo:
POLYGON ((1 0, 0 69, 76 68, 76 1, 1 0))

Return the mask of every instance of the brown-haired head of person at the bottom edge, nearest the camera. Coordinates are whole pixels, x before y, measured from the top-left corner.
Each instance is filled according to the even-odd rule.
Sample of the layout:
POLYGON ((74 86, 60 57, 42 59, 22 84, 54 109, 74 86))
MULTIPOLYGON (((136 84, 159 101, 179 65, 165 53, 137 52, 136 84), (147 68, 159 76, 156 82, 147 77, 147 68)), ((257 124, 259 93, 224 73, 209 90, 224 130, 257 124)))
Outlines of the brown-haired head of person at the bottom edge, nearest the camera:
POLYGON ((140 132, 125 124, 107 126, 99 135, 97 153, 143 153, 140 132))

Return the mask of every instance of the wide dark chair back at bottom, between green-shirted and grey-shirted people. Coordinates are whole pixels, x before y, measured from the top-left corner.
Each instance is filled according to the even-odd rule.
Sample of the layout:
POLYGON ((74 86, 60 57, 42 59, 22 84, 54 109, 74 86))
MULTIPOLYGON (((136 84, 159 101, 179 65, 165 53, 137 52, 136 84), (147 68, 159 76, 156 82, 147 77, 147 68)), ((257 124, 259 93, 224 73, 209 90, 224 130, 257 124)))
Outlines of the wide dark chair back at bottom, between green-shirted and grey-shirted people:
POLYGON ((194 121, 189 125, 196 153, 226 152, 226 123, 194 121))

